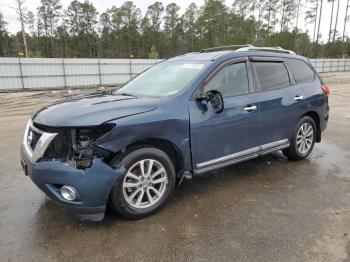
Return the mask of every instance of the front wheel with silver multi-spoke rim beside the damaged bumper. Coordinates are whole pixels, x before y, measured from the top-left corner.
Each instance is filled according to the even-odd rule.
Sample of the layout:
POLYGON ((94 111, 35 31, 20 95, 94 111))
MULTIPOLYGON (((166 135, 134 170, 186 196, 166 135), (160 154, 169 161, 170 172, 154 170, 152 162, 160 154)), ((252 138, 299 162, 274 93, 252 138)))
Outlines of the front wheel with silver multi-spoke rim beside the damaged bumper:
POLYGON ((131 219, 149 216, 162 208, 174 191, 174 164, 158 148, 130 149, 121 159, 112 160, 112 167, 116 165, 123 166, 125 171, 112 188, 110 202, 121 216, 131 219))

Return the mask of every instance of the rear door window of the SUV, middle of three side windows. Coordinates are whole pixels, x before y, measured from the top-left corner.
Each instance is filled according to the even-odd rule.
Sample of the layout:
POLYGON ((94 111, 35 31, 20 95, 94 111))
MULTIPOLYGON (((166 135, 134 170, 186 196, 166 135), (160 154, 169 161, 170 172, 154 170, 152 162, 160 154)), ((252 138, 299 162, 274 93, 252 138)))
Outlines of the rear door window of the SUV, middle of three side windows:
POLYGON ((252 63, 257 88, 266 91, 290 86, 287 68, 281 62, 252 63))

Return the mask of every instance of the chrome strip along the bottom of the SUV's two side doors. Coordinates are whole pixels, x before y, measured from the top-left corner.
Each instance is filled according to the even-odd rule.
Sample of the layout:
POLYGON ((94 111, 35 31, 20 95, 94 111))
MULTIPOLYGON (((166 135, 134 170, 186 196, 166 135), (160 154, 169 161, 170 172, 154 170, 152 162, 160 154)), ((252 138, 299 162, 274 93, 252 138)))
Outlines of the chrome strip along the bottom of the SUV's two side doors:
POLYGON ((284 146, 288 146, 289 145, 289 140, 288 139, 282 139, 282 140, 278 140, 278 141, 274 141, 271 143, 267 143, 261 146, 256 146, 256 147, 252 147, 243 151, 239 151, 237 153, 233 153, 230 155, 226 155, 223 157, 219 157, 219 158, 215 158, 212 160, 208 160, 205 162, 201 162, 196 164, 196 168, 197 169, 202 169, 202 168, 206 168, 208 166, 212 166, 212 165, 216 165, 216 164, 221 164, 223 162, 227 162, 227 161, 231 161, 234 159, 238 159, 238 158, 244 158, 247 157, 249 155, 254 155, 256 153, 259 153, 261 151, 266 151, 269 150, 269 152, 273 152, 274 149, 279 150, 281 148, 284 148, 284 146))

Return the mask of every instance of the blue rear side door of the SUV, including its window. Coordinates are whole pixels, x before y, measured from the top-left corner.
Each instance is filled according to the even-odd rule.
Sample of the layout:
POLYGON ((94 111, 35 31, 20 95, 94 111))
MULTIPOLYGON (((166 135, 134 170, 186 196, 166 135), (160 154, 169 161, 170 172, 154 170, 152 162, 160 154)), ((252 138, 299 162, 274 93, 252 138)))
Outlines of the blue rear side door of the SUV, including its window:
POLYGON ((303 91, 283 58, 253 57, 250 63, 261 113, 261 149, 284 148, 302 112, 303 91))

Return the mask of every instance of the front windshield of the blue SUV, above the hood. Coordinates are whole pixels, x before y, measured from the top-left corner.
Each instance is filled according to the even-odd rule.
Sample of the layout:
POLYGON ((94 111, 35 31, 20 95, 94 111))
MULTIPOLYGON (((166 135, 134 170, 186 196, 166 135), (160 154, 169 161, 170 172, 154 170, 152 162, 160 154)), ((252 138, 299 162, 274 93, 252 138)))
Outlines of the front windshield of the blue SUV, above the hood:
POLYGON ((206 61, 165 61, 141 73, 115 94, 170 96, 185 88, 208 64, 206 61))

